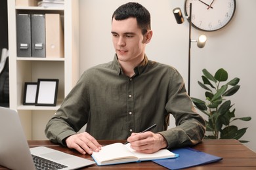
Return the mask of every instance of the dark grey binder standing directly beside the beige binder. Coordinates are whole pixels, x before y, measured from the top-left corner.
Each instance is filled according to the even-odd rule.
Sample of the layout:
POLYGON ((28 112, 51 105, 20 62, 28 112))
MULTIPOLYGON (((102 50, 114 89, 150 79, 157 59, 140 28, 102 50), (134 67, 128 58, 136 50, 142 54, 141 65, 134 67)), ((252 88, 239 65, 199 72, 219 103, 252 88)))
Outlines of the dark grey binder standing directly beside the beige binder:
POLYGON ((32 57, 45 58, 45 14, 31 14, 32 57))

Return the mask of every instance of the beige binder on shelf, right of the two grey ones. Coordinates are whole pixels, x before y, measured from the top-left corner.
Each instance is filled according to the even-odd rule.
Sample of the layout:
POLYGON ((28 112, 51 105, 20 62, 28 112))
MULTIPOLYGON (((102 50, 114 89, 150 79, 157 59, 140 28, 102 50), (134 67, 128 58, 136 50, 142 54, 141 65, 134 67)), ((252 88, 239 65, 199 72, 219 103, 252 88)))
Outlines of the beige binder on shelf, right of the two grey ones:
POLYGON ((45 14, 45 45, 47 58, 64 58, 64 31, 60 14, 45 14))

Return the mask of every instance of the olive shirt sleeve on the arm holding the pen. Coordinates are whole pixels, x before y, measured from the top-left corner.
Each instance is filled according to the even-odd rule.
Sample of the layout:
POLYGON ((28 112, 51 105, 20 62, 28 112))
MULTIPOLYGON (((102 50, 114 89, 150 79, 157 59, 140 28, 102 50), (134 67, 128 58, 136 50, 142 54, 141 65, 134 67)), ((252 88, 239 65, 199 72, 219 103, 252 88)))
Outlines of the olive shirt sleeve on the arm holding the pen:
POLYGON ((168 114, 173 114, 176 127, 161 131, 168 148, 200 143, 205 135, 205 121, 196 112, 192 100, 186 93, 184 81, 179 72, 170 74, 168 99, 165 105, 168 114))

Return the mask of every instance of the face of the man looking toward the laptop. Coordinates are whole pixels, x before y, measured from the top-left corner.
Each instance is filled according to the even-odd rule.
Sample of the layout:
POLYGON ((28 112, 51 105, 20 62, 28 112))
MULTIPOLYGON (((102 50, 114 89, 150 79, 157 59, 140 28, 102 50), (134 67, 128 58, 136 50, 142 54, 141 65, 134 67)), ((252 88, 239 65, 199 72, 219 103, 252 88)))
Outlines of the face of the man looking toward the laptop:
POLYGON ((136 63, 144 58, 145 37, 136 18, 112 20, 112 41, 119 61, 136 63))

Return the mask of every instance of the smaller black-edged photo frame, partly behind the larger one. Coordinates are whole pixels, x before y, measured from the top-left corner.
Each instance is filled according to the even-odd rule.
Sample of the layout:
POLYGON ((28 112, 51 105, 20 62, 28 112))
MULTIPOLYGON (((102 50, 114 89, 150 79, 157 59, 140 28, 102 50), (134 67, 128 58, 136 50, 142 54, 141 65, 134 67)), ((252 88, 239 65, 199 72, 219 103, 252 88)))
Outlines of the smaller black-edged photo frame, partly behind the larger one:
POLYGON ((37 93, 37 82, 25 82, 23 105, 35 105, 36 93, 37 93))

